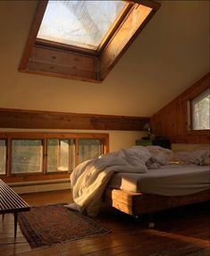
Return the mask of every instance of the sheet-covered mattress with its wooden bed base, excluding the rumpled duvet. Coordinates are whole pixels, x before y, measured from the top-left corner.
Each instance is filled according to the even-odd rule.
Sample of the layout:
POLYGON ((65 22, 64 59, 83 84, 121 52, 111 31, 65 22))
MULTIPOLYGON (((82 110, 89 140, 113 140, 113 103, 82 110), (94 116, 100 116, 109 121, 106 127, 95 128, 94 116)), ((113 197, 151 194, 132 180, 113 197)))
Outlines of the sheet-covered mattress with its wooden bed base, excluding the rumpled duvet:
POLYGON ((132 216, 210 201, 209 166, 162 166, 147 175, 118 173, 105 202, 132 216))

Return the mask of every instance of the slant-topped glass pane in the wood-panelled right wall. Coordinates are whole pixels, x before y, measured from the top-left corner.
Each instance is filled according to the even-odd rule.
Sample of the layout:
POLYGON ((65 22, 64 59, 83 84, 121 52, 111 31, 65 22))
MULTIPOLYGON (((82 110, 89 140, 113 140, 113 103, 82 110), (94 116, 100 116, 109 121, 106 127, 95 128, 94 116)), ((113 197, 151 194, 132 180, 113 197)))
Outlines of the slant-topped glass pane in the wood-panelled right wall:
POLYGON ((209 90, 194 98, 191 102, 192 107, 192 129, 207 130, 210 129, 209 111, 210 111, 210 94, 209 90))

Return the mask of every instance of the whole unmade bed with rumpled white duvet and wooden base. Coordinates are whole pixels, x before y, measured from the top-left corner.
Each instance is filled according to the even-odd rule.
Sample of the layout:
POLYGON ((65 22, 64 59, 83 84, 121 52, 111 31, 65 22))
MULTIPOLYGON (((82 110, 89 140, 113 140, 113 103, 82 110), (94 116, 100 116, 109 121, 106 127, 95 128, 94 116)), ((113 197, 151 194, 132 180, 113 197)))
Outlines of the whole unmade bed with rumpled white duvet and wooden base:
POLYGON ((157 146, 132 147, 81 163, 71 173, 71 209, 97 216, 102 199, 132 216, 210 201, 209 151, 174 153, 157 146), (170 164, 169 164, 170 163, 170 164), (177 163, 177 161, 176 161, 177 163), (192 165, 193 164, 193 165, 192 165))

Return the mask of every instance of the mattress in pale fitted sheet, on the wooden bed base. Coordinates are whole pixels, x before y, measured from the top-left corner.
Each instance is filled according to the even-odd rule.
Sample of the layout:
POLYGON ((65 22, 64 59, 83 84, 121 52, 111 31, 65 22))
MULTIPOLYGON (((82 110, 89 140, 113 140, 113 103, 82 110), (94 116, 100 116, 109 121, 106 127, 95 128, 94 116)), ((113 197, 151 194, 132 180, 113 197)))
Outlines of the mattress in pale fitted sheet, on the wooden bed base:
POLYGON ((147 174, 116 173, 108 187, 166 196, 188 195, 210 189, 210 166, 162 166, 147 174))

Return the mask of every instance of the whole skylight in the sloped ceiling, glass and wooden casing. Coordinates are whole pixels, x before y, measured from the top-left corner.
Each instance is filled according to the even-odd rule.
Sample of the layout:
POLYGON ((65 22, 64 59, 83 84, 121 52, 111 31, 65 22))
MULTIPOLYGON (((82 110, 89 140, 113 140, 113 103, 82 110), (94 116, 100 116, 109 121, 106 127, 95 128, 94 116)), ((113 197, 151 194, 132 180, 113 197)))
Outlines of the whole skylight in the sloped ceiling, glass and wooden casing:
POLYGON ((159 9, 153 1, 39 1, 19 71, 101 82, 159 9))

